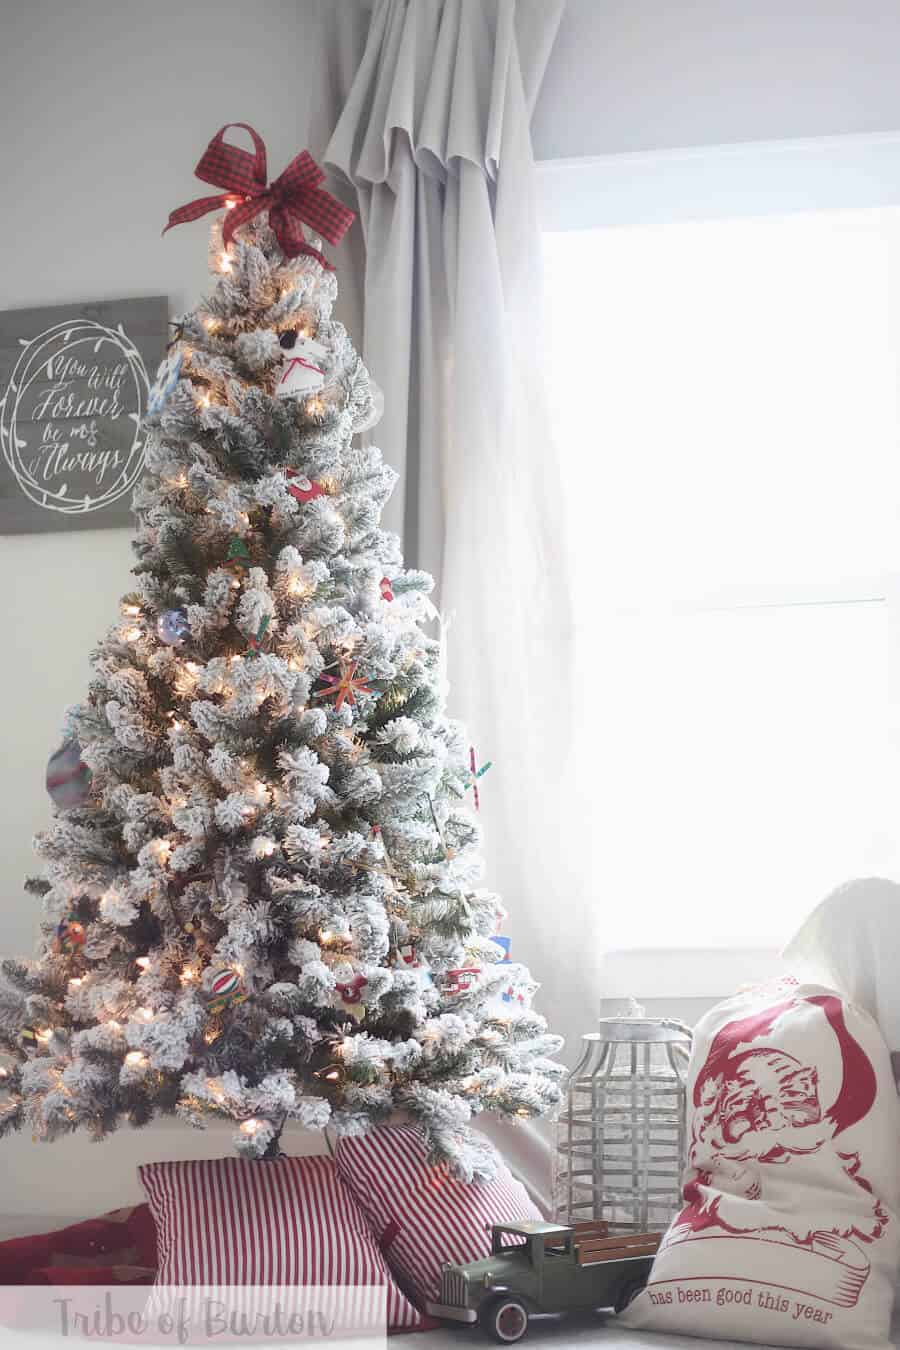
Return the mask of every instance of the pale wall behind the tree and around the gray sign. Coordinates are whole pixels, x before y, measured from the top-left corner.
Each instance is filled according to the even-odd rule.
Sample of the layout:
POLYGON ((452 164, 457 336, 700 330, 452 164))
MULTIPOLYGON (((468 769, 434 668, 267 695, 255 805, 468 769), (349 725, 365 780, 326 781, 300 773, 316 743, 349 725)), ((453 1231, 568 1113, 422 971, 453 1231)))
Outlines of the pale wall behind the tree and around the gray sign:
MULTIPOLYGON (((331 86, 352 65, 345 49, 322 59, 327 11, 328 0, 4 4, 0 306, 166 294, 177 313, 196 302, 208 223, 161 239, 167 213, 212 190, 193 166, 228 120, 263 135, 273 174, 304 146, 321 154, 331 86)), ((343 313, 355 328, 349 278, 344 267, 343 313)), ((46 759, 66 703, 85 691, 96 639, 117 617, 130 566, 128 531, 0 537, 0 954, 32 950, 36 907, 22 878, 49 819, 46 759)), ((0 1143, 0 1227, 4 1214, 85 1216, 124 1203, 136 1161, 188 1150, 227 1153, 228 1131, 208 1138, 169 1122, 101 1148, 18 1135, 0 1143)))

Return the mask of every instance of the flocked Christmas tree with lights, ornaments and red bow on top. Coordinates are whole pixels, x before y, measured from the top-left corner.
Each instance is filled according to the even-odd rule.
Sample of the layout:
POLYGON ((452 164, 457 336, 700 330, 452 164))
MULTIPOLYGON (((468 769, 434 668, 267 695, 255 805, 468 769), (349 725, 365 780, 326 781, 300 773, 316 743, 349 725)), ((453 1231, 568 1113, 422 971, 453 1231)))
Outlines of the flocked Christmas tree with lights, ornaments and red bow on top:
POLYGON ((306 155, 266 189, 251 135, 197 166, 228 201, 170 221, 224 208, 217 285, 151 390, 136 582, 50 764, 42 948, 0 984, 0 1130, 177 1111, 233 1119, 263 1157, 287 1120, 401 1111, 486 1174, 470 1118, 553 1107, 560 1040, 491 941, 432 579, 379 528, 395 474, 354 443, 378 394, 300 223, 336 242, 351 215, 306 155))

